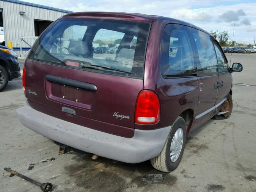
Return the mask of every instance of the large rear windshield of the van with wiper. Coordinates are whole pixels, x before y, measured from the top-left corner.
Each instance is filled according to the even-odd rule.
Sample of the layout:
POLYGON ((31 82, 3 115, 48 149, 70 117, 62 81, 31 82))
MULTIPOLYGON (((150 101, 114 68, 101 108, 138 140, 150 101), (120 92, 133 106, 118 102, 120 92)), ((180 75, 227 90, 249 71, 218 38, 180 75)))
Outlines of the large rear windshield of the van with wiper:
POLYGON ((28 58, 48 64, 143 78, 150 24, 60 19, 37 40, 28 58))

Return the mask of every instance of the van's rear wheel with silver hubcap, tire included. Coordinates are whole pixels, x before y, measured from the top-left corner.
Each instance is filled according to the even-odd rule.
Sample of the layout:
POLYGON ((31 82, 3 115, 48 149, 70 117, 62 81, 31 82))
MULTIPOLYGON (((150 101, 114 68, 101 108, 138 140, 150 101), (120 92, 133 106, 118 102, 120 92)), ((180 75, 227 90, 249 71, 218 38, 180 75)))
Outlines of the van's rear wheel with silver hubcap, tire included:
POLYGON ((178 117, 172 124, 161 153, 150 160, 152 166, 162 172, 172 172, 180 164, 186 143, 186 123, 178 117))

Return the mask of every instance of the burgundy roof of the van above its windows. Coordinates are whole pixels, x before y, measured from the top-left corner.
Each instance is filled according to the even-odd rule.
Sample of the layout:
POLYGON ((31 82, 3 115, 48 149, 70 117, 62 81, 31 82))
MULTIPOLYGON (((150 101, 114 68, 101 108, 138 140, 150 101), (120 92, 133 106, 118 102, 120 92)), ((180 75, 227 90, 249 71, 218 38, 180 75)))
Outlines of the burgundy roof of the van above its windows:
POLYGON ((147 23, 152 23, 154 19, 160 19, 160 20, 165 20, 166 22, 172 22, 175 24, 181 24, 181 25, 186 25, 192 28, 196 28, 198 30, 201 30, 203 32, 206 32, 209 34, 207 31, 203 30, 202 28, 199 28, 191 23, 174 19, 174 18, 168 18, 168 17, 163 17, 163 16, 158 16, 158 15, 146 15, 146 14, 141 14, 141 13, 124 13, 124 12, 76 12, 76 13, 70 13, 62 18, 106 18, 106 19, 117 19, 117 20, 133 20, 133 21, 138 21, 138 22, 147 22, 147 23))

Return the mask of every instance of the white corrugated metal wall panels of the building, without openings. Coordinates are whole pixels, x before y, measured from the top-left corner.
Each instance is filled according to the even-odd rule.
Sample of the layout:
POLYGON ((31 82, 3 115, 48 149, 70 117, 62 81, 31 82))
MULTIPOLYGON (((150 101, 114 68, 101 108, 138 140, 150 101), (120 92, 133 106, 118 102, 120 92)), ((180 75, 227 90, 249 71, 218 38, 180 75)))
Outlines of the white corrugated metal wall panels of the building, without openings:
MULTIPOLYGON (((54 21, 67 14, 55 10, 48 10, 33 6, 27 6, 12 2, 0 0, 0 8, 3 9, 4 38, 5 44, 12 41, 13 47, 28 47, 24 42, 20 42, 21 36, 35 36, 34 20, 54 21), (20 15, 24 11, 24 15, 20 15)), ((33 39, 25 39, 30 45, 34 43, 33 39)), ((20 51, 16 51, 20 56, 20 51)), ((22 54, 25 52, 22 51, 22 54)))

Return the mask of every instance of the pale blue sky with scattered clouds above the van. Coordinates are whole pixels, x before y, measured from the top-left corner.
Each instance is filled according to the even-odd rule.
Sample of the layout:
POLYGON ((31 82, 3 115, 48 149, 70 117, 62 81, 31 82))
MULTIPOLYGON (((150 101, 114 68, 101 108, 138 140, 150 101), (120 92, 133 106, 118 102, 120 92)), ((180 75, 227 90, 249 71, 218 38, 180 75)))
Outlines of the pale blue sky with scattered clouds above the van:
POLYGON ((232 40, 254 42, 256 0, 26 0, 74 12, 136 12, 172 17, 195 24, 207 31, 228 31, 232 40))

